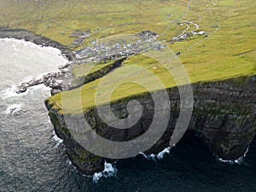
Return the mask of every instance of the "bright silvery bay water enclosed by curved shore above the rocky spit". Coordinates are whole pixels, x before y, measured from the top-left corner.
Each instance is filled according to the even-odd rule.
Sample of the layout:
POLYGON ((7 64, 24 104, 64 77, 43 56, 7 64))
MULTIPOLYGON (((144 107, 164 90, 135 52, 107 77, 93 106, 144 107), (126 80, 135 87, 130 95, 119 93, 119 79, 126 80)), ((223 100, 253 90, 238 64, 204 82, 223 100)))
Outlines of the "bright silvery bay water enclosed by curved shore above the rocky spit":
POLYGON ((0 45, 5 48, 0 54, 0 61, 3 62, 1 76, 5 77, 5 74, 8 74, 6 82, 9 84, 16 84, 17 80, 20 81, 27 76, 33 78, 44 73, 58 72, 59 66, 68 63, 67 58, 61 55, 60 49, 42 47, 12 38, 0 39, 0 45))

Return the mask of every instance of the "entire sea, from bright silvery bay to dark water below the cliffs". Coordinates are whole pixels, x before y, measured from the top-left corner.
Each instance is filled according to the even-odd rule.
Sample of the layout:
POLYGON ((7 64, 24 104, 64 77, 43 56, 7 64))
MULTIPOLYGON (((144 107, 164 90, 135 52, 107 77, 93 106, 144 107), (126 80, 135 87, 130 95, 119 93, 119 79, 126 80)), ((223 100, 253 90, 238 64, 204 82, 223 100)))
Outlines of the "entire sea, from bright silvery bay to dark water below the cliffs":
POLYGON ((161 160, 139 155, 109 167, 112 176, 81 175, 70 164, 49 122, 44 108, 49 90, 38 86, 17 96, 14 88, 9 89, 10 84, 53 71, 66 61, 53 49, 3 40, 0 45, 1 192, 256 191, 256 140, 239 164, 230 164, 212 156, 194 132, 188 132, 161 160), (32 50, 26 53, 29 47, 32 50), (45 58, 55 60, 54 64, 45 58))

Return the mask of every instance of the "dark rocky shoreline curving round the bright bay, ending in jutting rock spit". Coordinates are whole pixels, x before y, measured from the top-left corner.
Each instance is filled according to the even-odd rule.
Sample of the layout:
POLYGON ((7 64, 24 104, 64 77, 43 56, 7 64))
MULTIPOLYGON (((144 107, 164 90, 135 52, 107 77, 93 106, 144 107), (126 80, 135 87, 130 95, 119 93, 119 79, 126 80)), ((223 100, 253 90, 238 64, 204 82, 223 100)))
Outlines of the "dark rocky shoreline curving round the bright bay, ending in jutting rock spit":
POLYGON ((42 37, 40 35, 34 34, 33 32, 29 32, 23 29, 10 29, 6 27, 0 27, 0 38, 15 38, 29 41, 44 47, 53 47, 56 49, 60 49, 61 54, 67 57, 69 61, 66 65, 59 67, 59 72, 48 73, 38 79, 32 79, 28 82, 23 82, 17 85, 16 92, 18 94, 26 92, 27 88, 38 84, 44 84, 45 86, 50 87, 52 96, 58 92, 61 92, 62 90, 69 89, 73 77, 68 68, 76 63, 76 57, 73 54, 73 51, 68 49, 66 46, 50 40, 49 38, 42 37))

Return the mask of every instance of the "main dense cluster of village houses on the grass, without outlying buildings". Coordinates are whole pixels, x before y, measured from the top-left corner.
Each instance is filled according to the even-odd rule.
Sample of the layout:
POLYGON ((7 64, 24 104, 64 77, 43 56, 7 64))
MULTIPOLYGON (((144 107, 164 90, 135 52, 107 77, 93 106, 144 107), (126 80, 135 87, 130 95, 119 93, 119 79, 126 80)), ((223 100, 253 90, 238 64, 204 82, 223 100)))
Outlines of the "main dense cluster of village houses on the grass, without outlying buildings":
POLYGON ((142 51, 161 50, 166 45, 157 41, 158 35, 154 32, 144 31, 137 33, 132 38, 116 38, 107 43, 92 41, 88 47, 75 51, 77 59, 86 62, 113 61, 122 56, 137 55, 142 51))

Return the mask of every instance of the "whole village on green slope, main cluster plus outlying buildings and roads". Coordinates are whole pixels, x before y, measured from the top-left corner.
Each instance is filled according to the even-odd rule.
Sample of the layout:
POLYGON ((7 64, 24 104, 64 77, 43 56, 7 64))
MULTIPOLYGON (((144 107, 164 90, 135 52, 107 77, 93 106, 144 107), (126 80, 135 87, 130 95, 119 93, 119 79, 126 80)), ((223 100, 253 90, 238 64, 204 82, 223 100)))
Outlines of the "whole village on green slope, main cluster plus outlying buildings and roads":
MULTIPOLYGON (((177 20, 178 26, 186 25, 186 29, 176 37, 172 38, 171 42, 178 42, 188 39, 193 36, 202 36, 207 32, 198 31, 199 26, 188 20, 177 20), (189 32, 190 25, 195 26, 195 29, 189 32), (197 32, 195 32, 197 31, 197 32)), ((73 44, 80 46, 84 43, 86 38, 90 38, 90 32, 74 32, 70 35, 71 38, 76 38, 73 41, 73 44)), ((123 56, 137 55, 142 51, 148 50, 162 50, 166 47, 165 44, 160 43, 157 40, 159 37, 158 34, 151 31, 139 32, 132 38, 117 37, 115 40, 108 40, 107 42, 100 42, 96 39, 90 42, 89 46, 79 49, 74 52, 76 58, 78 59, 77 63, 88 63, 88 62, 100 62, 104 63, 107 61, 113 61, 117 58, 123 56), (135 37, 135 38, 134 38, 135 37)), ((106 40, 106 39, 105 39, 106 40)), ((180 55, 178 53, 177 55, 180 55)))

